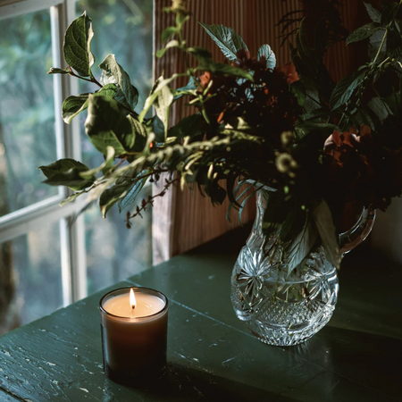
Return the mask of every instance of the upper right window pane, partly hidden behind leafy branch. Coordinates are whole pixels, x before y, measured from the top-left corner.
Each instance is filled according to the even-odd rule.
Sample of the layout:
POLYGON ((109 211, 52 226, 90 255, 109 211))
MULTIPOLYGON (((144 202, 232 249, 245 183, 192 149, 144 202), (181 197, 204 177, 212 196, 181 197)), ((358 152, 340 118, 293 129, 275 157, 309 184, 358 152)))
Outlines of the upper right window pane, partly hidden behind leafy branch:
MULTIPOLYGON (((114 54, 130 75, 131 83, 138 89, 140 111, 152 86, 152 0, 80 0, 77 14, 87 11, 92 20, 95 36, 91 42, 91 51, 96 57, 92 70, 96 79, 102 71, 97 64, 107 54, 114 54)), ((94 92, 96 85, 80 80, 80 93, 94 92)), ((83 163, 95 167, 103 162, 102 155, 92 146, 83 130, 87 113, 80 113, 83 163)))

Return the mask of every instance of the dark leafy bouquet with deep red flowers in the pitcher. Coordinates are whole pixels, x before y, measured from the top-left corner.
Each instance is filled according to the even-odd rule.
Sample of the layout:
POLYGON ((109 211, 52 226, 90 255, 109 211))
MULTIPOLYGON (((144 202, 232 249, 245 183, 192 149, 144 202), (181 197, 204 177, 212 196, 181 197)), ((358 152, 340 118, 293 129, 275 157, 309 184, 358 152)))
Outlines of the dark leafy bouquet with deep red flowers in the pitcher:
POLYGON ((175 181, 182 188, 197 186, 213 204, 228 197, 230 208, 240 212, 255 191, 267 186, 273 191, 264 230, 284 247, 289 266, 300 264, 317 244, 339 266, 345 205, 385 210, 402 193, 401 3, 381 10, 365 4, 372 22, 349 35, 335 0, 322 2, 314 24, 285 15, 281 23, 293 63, 277 67, 269 45, 250 54, 243 39, 221 25, 201 23, 226 63, 188 46, 182 31, 190 14, 185 2, 173 1, 166 12, 175 16, 175 25, 163 31, 165 46, 156 56, 179 51, 186 69, 155 80, 138 112, 138 91, 113 54, 99 64, 102 74, 96 80, 90 50, 94 31, 84 13, 65 33, 67 68, 49 73, 99 87, 93 94, 69 96, 62 113, 69 123, 88 109, 85 130, 105 162, 92 169, 71 159, 41 166, 46 183, 74 191, 63 204, 86 193, 88 202, 99 198, 105 216, 114 204, 121 211, 136 205, 146 181, 168 173, 162 193, 127 212, 129 228, 130 219, 175 181), (287 34, 295 21, 298 28, 287 34), (339 41, 366 41, 371 56, 335 83, 322 60, 339 41), (172 88, 179 77, 187 77, 188 85, 172 88), (197 113, 170 127, 170 108, 181 97, 197 113), (152 106, 155 115, 147 117, 152 106))

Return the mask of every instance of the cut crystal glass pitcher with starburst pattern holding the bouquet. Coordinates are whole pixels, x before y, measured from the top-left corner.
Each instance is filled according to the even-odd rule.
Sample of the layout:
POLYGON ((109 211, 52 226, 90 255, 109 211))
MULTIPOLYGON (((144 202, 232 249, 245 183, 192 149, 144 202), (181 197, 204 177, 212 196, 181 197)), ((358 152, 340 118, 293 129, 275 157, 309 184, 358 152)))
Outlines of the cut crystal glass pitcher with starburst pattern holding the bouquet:
MULTIPOLYGON (((264 210, 271 188, 256 193, 256 217, 246 246, 240 251, 231 276, 231 302, 241 321, 265 343, 291 346, 311 338, 330 321, 337 303, 336 268, 315 248, 288 274, 275 239, 263 233, 264 210)), ((364 209, 355 226, 339 235, 342 254, 369 235, 375 210, 364 209)))

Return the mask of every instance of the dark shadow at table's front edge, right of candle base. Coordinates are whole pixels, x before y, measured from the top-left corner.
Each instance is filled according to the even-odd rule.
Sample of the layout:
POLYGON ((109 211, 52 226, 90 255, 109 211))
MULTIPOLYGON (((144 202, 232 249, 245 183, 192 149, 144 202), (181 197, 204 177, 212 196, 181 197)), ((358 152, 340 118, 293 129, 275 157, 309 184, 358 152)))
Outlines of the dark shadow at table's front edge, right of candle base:
POLYGON ((178 364, 168 364, 167 374, 158 384, 132 388, 144 401, 296 402, 293 398, 178 364))

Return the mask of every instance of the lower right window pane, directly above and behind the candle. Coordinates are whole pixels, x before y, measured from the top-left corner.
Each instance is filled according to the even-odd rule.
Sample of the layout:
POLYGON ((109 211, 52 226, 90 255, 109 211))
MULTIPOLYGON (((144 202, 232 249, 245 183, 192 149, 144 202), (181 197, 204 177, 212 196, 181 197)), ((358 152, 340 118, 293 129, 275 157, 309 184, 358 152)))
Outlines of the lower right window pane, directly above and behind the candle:
MULTIPOLYGON (((147 186, 138 194, 138 203, 150 194, 151 187, 147 186)), ((143 219, 134 218, 130 230, 124 224, 128 210, 119 214, 113 207, 107 219, 102 219, 96 207, 85 214, 88 294, 144 271, 152 264, 152 210, 147 208, 141 213, 143 219)))

